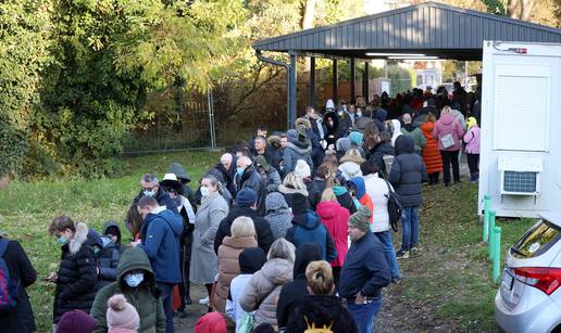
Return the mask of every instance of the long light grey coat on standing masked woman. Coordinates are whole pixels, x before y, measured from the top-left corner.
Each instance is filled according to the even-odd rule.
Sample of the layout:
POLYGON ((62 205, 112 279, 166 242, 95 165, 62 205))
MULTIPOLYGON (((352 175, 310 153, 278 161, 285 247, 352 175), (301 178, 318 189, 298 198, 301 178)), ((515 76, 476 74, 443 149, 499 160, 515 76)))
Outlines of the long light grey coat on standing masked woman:
POLYGON ((220 222, 228 215, 228 204, 219 192, 210 193, 201 201, 195 217, 192 232, 191 262, 189 280, 198 283, 212 283, 217 271, 217 257, 214 253, 214 238, 220 222))

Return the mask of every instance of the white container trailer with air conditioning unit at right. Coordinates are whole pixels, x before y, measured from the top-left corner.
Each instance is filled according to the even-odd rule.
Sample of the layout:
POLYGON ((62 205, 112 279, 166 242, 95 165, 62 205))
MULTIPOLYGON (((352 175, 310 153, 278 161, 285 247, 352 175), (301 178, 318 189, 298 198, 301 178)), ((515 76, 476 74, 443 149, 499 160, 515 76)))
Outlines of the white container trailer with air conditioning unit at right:
POLYGON ((561 210, 561 44, 485 41, 478 214, 561 210))

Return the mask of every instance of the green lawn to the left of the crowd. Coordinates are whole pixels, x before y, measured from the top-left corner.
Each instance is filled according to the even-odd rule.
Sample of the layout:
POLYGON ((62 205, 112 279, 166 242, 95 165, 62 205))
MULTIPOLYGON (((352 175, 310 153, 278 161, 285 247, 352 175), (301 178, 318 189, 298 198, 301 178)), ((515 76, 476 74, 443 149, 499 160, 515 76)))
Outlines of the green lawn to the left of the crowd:
POLYGON ((38 332, 47 332, 51 328, 54 285, 42 279, 57 270, 60 259, 57 242, 47 234, 54 216, 66 214, 98 230, 105 221, 115 220, 126 234, 123 220, 128 205, 140 190, 138 181, 142 174, 154 172, 161 178, 172 162, 179 162, 191 181, 197 183, 217 158, 217 153, 196 151, 151 154, 127 159, 127 171, 120 178, 15 181, 0 191, 0 231, 22 243, 37 270, 37 282, 27 292, 38 332))

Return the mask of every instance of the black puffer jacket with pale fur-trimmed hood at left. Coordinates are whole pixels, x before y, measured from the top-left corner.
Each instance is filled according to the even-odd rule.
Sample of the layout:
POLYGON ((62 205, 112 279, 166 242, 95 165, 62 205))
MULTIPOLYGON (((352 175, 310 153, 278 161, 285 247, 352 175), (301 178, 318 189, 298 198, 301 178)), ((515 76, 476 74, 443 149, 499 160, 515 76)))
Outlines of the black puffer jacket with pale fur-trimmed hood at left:
POLYGON ((53 323, 74 309, 89 313, 98 281, 94 245, 88 240, 88 227, 82 222, 76 225, 74 238, 62 245, 59 280, 54 290, 53 323))

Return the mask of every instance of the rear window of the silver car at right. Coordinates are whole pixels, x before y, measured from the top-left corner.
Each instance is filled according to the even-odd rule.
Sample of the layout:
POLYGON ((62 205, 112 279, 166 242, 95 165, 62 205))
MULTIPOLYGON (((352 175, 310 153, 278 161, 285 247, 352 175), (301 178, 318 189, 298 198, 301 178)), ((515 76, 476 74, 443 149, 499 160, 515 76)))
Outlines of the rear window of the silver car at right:
POLYGON ((545 253, 561 239, 561 229, 546 220, 532 227, 512 246, 511 253, 519 258, 533 258, 545 253))

